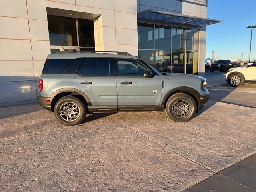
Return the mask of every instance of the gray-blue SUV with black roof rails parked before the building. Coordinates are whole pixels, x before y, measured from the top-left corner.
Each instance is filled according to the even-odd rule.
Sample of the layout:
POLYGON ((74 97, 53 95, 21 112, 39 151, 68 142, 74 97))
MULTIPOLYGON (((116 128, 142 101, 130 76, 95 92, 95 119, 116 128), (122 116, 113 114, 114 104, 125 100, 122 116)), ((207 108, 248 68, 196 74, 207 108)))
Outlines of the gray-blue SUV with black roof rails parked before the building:
POLYGON ((64 125, 89 113, 164 109, 186 122, 208 101, 206 85, 200 76, 162 74, 126 52, 58 52, 46 59, 38 102, 64 125))

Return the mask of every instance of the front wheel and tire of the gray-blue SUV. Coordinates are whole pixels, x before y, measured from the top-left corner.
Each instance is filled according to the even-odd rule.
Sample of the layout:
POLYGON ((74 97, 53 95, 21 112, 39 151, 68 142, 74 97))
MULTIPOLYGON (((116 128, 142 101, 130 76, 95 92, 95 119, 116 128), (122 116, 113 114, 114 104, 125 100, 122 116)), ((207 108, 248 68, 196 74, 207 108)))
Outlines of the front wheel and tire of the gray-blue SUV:
POLYGON ((166 103, 166 113, 169 118, 175 122, 187 122, 190 119, 194 118, 194 115, 196 113, 196 107, 196 101, 194 100, 194 98, 192 98, 192 96, 185 93, 176 93, 168 99, 166 103), (184 101, 187 105, 184 103, 184 101), (180 107, 183 107, 183 110, 181 109, 181 111, 185 116, 182 115, 180 107), (186 110, 188 108, 190 108, 190 110, 186 110))

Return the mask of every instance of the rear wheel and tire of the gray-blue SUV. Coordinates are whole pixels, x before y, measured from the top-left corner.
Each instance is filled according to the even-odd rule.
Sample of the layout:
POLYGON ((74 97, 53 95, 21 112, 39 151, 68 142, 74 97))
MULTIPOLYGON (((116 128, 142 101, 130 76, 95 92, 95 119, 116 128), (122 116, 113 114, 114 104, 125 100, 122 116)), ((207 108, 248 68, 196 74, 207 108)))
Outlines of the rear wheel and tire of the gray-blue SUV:
POLYGON ((86 107, 76 96, 64 96, 56 102, 54 114, 61 124, 68 126, 78 125, 86 116, 86 107), (60 110, 60 108, 62 110, 60 110), (61 112, 63 114, 61 114, 61 112), (66 118, 66 120, 64 118, 66 118))

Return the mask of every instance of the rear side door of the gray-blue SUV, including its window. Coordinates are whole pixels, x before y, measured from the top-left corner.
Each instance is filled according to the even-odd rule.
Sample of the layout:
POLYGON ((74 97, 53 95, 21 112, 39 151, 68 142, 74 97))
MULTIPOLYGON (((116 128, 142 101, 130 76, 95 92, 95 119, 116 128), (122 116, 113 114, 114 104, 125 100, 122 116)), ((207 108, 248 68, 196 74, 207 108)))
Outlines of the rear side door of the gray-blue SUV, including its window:
POLYGON ((117 110, 116 78, 109 58, 87 58, 74 81, 74 88, 90 99, 90 112, 117 110))

